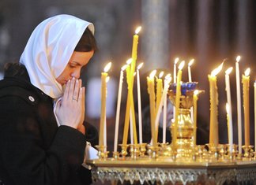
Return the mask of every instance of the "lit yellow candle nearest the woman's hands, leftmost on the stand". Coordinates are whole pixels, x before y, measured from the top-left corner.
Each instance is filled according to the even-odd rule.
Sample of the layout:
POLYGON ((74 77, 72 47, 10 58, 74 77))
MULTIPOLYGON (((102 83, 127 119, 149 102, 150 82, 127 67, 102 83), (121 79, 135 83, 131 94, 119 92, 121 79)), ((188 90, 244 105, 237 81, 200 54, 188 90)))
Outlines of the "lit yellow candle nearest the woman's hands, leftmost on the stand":
POLYGON ((106 127, 106 99, 107 99, 107 72, 111 68, 111 62, 109 62, 105 68, 104 72, 101 73, 101 113, 100 113, 100 139, 99 146, 104 146, 105 134, 104 130, 106 127))

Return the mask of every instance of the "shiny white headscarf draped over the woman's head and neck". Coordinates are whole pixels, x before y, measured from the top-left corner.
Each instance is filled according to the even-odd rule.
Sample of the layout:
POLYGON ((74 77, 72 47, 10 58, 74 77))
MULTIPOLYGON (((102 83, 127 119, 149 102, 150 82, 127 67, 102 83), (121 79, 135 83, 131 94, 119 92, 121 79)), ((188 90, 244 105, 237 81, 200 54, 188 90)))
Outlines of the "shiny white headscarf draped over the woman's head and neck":
POLYGON ((94 34, 92 23, 62 14, 43 20, 28 39, 20 63, 27 68, 31 83, 51 98, 62 96, 62 85, 56 78, 87 27, 94 34))

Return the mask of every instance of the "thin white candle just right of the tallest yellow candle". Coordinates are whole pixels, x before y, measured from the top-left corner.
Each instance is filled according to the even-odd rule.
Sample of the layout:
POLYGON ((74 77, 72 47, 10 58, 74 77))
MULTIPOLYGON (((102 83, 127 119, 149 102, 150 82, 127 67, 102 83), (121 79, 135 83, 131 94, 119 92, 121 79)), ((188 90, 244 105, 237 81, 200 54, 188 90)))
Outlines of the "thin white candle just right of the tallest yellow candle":
POLYGON ((143 62, 137 65, 137 113, 138 113, 138 124, 139 124, 139 142, 142 143, 142 118, 141 118, 141 82, 139 70, 142 67, 143 62))

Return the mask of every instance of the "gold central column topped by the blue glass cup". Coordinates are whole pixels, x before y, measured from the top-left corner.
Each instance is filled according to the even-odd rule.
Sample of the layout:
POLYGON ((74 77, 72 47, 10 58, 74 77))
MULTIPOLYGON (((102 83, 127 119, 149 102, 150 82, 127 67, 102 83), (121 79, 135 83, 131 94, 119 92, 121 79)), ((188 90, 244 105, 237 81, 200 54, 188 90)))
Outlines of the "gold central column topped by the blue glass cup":
MULTIPOLYGON (((197 82, 183 83, 181 86, 182 95, 180 97, 179 107, 175 107, 178 111, 178 121, 171 124, 171 143, 172 151, 176 154, 176 159, 191 160, 194 158, 194 121, 190 117, 190 108, 193 106, 193 95, 197 87, 197 82), (175 125, 177 123, 177 125, 175 125), (176 126, 176 127, 175 127, 176 126), (176 128, 176 131, 175 131, 176 128), (173 135, 176 133, 176 138, 173 135)), ((199 91, 201 93, 203 91, 199 91)), ((172 105, 175 105, 176 100, 176 84, 172 83, 168 91, 172 105)), ((194 160, 194 159, 193 159, 194 160)))

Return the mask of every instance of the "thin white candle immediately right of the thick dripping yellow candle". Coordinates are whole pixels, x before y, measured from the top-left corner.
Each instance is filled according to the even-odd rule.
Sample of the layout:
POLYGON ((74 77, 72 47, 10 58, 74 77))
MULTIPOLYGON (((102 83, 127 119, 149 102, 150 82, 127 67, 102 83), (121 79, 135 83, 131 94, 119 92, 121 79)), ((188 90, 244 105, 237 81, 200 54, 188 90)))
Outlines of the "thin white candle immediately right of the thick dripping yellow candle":
POLYGON ((232 121, 232 99, 231 99, 231 92, 230 92, 230 81, 229 81, 229 74, 232 72, 232 67, 228 68, 225 71, 225 83, 226 83, 226 92, 227 92, 227 106, 228 106, 228 144, 230 146, 230 151, 232 151, 232 144, 233 144, 233 121, 232 121))

